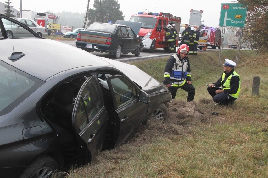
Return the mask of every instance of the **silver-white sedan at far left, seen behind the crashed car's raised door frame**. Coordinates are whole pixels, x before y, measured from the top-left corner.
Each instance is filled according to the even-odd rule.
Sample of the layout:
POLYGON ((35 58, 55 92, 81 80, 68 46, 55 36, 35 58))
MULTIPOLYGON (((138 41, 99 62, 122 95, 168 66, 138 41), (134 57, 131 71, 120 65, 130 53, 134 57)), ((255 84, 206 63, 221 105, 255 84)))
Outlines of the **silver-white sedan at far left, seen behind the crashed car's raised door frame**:
MULTIPOLYGON (((28 26, 41 38, 46 37, 47 35, 46 28, 39 26, 38 24, 36 24, 35 21, 28 19, 28 18, 13 18, 13 19, 28 26)), ((7 23, 4 23, 4 26, 6 28, 8 38, 30 37, 29 32, 26 32, 25 29, 19 26, 18 24, 10 23, 10 21, 7 21, 7 23)))

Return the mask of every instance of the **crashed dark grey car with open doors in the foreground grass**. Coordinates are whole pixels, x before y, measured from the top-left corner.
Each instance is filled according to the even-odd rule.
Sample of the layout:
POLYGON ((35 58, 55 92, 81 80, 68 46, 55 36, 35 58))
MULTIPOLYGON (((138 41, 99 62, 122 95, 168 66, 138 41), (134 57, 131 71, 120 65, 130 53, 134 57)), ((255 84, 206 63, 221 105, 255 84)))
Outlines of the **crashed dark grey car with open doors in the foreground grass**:
POLYGON ((0 27, 1 178, 44 178, 90 162, 148 117, 167 117, 170 92, 136 66, 38 38, 2 14, 0 27), (36 38, 9 39, 6 20, 36 38))

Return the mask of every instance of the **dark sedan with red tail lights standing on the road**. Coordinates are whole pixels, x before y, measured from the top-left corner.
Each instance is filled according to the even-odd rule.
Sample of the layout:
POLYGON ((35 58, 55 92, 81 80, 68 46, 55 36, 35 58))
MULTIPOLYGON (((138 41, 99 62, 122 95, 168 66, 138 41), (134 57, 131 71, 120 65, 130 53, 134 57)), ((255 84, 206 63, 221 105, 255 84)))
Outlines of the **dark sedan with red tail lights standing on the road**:
POLYGON ((76 47, 92 52, 106 52, 120 58, 121 53, 139 56, 142 39, 130 26, 109 23, 92 23, 78 33, 76 47))

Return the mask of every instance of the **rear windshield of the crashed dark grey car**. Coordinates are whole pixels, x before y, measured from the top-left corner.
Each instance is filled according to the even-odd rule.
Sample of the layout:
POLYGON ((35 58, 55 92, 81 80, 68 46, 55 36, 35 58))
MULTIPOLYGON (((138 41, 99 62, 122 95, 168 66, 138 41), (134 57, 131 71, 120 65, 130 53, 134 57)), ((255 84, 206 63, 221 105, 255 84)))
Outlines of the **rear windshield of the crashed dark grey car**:
POLYGON ((14 109, 43 83, 0 60, 0 115, 14 109))

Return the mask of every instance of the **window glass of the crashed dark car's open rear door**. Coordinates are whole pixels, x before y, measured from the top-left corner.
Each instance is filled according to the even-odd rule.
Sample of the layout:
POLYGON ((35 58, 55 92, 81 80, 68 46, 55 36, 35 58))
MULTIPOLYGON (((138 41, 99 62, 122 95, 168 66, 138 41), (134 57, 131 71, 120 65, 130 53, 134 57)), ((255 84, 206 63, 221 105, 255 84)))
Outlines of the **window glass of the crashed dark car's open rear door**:
POLYGON ((98 87, 94 76, 92 76, 77 98, 77 110, 75 113, 75 127, 78 132, 90 123, 92 118, 102 107, 98 87))

